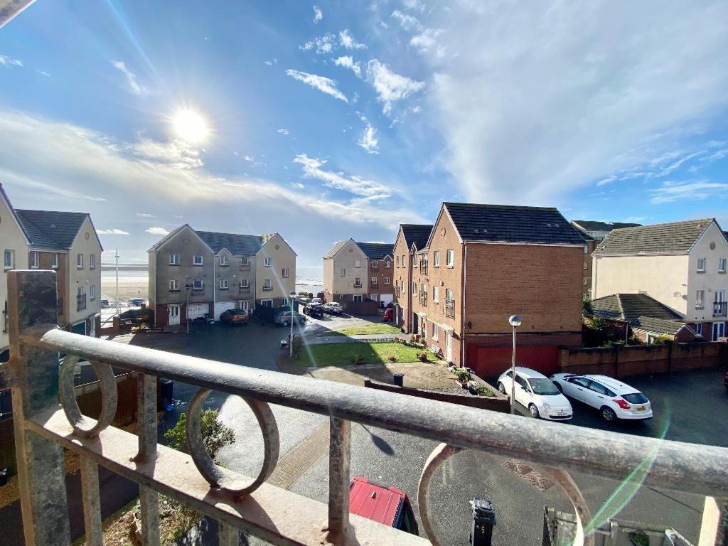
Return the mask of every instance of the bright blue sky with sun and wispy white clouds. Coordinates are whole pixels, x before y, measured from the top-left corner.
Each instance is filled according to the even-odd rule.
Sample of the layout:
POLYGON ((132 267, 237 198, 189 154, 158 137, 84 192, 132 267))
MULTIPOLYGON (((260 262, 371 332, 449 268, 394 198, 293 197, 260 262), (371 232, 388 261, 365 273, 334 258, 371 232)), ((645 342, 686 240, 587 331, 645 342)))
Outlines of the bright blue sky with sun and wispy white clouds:
POLYGON ((728 2, 39 0, 0 29, 0 183, 103 261, 280 232, 298 264, 440 202, 728 229, 728 2))

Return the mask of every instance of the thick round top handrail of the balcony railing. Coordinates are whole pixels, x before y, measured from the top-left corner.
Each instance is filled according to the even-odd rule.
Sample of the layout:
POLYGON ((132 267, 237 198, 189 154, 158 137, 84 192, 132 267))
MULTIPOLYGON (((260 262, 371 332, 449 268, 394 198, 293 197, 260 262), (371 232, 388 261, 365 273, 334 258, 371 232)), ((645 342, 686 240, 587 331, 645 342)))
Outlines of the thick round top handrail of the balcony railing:
POLYGON ((647 474, 646 483, 652 486, 728 495, 728 448, 537 421, 415 397, 408 397, 404 403, 401 395, 392 392, 117 344, 60 330, 23 341, 119 368, 451 446, 620 479, 640 468, 647 474))

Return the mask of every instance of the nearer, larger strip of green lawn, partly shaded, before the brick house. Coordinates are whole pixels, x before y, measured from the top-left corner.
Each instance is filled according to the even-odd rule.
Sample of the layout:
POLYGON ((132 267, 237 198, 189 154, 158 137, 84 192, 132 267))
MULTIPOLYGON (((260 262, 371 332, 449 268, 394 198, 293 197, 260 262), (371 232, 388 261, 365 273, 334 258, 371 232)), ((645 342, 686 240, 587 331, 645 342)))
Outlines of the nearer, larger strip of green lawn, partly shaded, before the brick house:
POLYGON ((427 349, 407 347, 400 343, 328 343, 309 345, 301 349, 296 364, 301 366, 342 366, 354 364, 363 357, 366 364, 389 362, 389 355, 394 355, 397 362, 417 362, 417 353, 425 352, 427 360, 434 362, 435 357, 427 349))

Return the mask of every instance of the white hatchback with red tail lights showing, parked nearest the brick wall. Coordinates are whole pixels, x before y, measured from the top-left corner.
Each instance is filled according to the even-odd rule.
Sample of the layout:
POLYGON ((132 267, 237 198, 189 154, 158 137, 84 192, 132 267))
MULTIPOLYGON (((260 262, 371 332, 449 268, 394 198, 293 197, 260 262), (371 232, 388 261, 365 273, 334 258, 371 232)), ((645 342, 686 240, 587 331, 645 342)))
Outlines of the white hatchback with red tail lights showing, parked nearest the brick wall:
POLYGON ((652 419, 652 408, 647 397, 619 379, 597 375, 578 376, 575 373, 555 373, 551 379, 566 396, 601 411, 605 421, 652 419))

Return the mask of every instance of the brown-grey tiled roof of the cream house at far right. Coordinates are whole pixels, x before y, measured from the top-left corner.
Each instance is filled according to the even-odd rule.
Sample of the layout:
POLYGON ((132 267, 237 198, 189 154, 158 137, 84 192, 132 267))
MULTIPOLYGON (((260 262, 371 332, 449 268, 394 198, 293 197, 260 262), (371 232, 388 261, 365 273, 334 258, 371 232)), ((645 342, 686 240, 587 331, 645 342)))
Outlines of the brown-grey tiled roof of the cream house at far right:
POLYGON ((703 218, 614 229, 596 248, 594 255, 687 254, 712 221, 713 218, 703 218))

